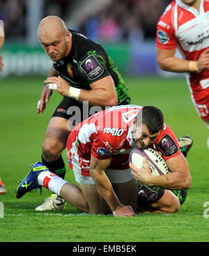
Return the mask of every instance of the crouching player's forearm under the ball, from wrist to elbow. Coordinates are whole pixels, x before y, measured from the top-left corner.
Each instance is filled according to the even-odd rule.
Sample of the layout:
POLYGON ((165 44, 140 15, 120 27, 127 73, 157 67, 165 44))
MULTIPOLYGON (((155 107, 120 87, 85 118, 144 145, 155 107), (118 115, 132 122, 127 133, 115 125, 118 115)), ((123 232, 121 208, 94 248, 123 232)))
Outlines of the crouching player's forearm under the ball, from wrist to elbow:
POLYGON ((174 171, 167 175, 151 176, 146 185, 163 187, 166 190, 183 190, 190 188, 191 179, 181 171, 174 171))

